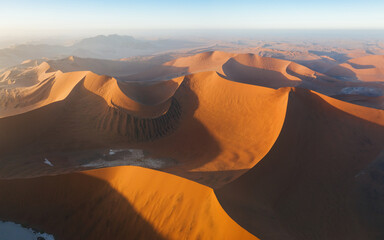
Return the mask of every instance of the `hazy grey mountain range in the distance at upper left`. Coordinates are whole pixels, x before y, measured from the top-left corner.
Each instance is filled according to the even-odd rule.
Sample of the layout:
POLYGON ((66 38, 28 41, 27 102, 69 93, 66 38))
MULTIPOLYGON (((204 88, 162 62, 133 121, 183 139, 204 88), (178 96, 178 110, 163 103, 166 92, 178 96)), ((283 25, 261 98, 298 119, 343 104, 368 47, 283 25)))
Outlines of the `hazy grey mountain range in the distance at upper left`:
POLYGON ((28 59, 59 59, 73 55, 83 58, 120 59, 201 45, 202 43, 187 40, 139 40, 116 34, 99 35, 82 39, 71 46, 28 44, 0 49, 0 69, 17 65, 28 59))

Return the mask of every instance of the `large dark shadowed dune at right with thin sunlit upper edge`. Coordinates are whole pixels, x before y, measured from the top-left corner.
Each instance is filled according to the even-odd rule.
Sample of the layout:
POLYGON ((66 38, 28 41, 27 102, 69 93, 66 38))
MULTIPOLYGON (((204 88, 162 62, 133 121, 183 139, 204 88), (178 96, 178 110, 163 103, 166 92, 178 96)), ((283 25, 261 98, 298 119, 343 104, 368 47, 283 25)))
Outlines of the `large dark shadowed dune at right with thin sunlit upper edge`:
POLYGON ((364 221, 380 212, 362 208, 358 179, 383 148, 382 110, 294 89, 271 151, 216 194, 261 239, 378 239, 380 224, 364 221))

